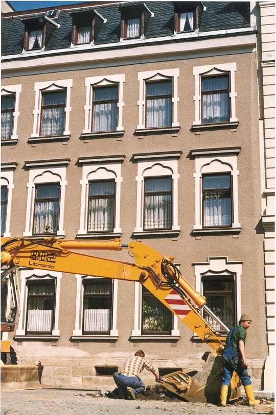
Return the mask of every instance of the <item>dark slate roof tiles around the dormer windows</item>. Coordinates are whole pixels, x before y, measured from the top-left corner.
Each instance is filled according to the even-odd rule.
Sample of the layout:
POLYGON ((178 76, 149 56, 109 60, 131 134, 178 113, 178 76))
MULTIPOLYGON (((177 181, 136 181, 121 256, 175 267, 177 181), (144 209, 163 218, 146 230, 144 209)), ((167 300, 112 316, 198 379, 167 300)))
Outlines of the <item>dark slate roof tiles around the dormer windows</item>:
MULTIPOLYGON (((155 15, 149 20, 145 37, 153 39, 171 36, 174 32, 173 2, 145 2, 145 4, 155 15)), ((206 10, 202 13, 199 25, 201 33, 205 32, 207 35, 210 31, 250 27, 249 2, 202 2, 202 4, 206 10)), ((95 44, 104 45, 120 40, 121 12, 119 7, 119 3, 95 7, 107 19, 107 22, 101 26, 95 44)), ((85 10, 90 9, 93 7, 85 8, 85 10)), ((60 10, 58 18, 55 19, 60 24, 59 29, 53 29, 50 23, 51 35, 46 40, 45 51, 70 47, 73 11, 76 10, 60 10)), ((22 52, 25 29, 23 18, 34 18, 43 16, 43 14, 45 13, 2 18, 2 56, 22 52)))

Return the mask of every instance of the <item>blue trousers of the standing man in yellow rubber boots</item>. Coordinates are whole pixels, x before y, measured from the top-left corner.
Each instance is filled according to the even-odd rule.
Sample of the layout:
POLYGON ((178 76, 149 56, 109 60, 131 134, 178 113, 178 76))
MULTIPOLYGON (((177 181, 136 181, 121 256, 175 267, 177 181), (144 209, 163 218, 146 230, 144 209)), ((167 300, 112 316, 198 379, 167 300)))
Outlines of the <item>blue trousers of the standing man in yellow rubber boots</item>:
POLYGON ((223 385, 229 386, 234 370, 239 376, 243 386, 247 386, 251 384, 250 376, 247 373, 247 369, 242 368, 241 358, 238 356, 237 352, 234 351, 232 348, 224 349, 224 352, 222 355, 222 363, 223 363, 223 373, 222 373, 222 384, 223 385))

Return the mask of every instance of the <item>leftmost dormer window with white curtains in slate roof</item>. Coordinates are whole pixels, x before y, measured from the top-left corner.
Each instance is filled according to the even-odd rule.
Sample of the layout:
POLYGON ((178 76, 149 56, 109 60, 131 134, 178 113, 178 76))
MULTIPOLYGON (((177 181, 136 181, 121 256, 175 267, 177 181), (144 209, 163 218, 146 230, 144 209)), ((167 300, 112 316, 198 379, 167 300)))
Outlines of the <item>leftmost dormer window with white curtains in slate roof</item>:
POLYGON ((45 44, 46 26, 42 19, 29 20, 25 23, 25 51, 39 50, 45 44))

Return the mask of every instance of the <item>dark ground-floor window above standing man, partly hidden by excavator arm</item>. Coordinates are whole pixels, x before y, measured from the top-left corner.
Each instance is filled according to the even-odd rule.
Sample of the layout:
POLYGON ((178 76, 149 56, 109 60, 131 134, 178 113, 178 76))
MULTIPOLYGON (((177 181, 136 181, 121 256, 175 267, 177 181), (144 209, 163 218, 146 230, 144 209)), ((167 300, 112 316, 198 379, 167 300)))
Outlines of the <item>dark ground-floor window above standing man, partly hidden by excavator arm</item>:
MULTIPOLYGON (((206 304, 214 314, 225 324, 232 328, 236 325, 236 300, 235 280, 233 276, 203 276, 203 296, 206 297, 206 304)), ((204 318, 211 326, 218 331, 223 331, 221 326, 207 313, 204 318)))

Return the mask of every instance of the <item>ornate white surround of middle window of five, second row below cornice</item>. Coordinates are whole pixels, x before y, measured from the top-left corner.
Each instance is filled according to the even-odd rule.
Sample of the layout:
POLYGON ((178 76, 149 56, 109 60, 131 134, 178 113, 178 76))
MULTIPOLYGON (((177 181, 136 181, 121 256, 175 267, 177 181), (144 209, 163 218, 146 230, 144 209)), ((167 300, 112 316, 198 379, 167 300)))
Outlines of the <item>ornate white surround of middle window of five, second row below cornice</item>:
POLYGON ((125 155, 100 156, 100 157, 79 157, 79 164, 82 164, 81 184, 81 213, 80 229, 77 238, 93 238, 102 236, 117 237, 122 235, 120 228, 120 207, 121 207, 121 183, 123 181, 121 167, 125 155), (114 180, 116 183, 115 192, 115 217, 113 232, 87 233, 88 195, 89 181, 114 180))

